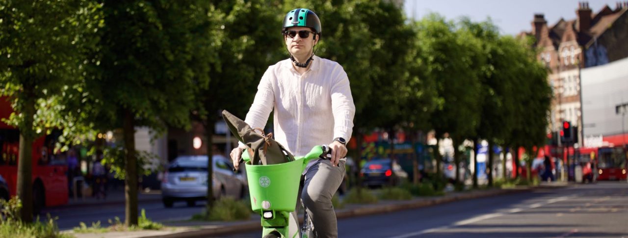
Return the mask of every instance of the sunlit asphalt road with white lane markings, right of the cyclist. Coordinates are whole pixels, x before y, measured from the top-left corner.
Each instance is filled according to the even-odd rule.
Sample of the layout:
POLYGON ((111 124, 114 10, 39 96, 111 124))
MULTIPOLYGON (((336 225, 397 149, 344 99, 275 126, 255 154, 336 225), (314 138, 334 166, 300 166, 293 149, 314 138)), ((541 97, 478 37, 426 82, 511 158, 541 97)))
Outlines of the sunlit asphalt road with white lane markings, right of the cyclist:
MULTIPOLYGON (((338 237, 628 237, 628 183, 477 198, 338 220, 338 237)), ((260 237, 261 233, 223 237, 260 237)))

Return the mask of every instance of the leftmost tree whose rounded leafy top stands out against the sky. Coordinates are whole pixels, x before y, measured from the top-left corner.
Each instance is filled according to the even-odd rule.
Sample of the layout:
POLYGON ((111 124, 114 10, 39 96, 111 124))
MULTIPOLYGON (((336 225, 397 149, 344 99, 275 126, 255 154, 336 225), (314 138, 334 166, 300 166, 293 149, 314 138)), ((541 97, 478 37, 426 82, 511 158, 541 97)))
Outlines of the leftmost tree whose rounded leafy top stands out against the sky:
MULTIPOLYGON (((430 125, 438 138, 452 134, 455 147, 475 132, 479 121, 480 82, 474 72, 477 41, 462 37, 452 22, 436 14, 418 21, 419 72, 436 83, 438 97, 430 125)), ((438 147, 438 144, 436 145, 438 147)), ((457 156, 455 156, 457 158, 457 156)), ((436 153, 436 173, 441 176, 440 153, 436 153)))

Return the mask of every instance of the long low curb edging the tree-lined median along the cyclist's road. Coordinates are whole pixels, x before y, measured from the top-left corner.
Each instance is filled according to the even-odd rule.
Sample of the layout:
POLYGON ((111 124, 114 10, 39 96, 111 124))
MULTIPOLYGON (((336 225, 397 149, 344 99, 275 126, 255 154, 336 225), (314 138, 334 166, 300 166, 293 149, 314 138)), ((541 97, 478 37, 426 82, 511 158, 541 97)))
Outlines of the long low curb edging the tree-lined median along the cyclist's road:
MULTIPOLYGON (((409 200, 409 201, 404 201, 401 203, 393 203, 393 204, 366 205, 368 207, 349 208, 347 210, 337 211, 336 217, 338 219, 344 219, 348 217, 384 214, 384 213, 389 213, 389 212, 396 212, 399 210, 429 207, 432 205, 450 203, 450 202, 455 202, 458 200, 492 197, 492 196, 506 195, 506 194, 511 194, 511 193, 531 192, 537 188, 546 188, 546 187, 514 188, 514 189, 500 189, 500 190, 490 190, 490 191, 481 191, 481 192, 459 193, 455 195, 450 195, 449 197, 431 197, 427 199, 409 200)), ((551 188, 561 188, 561 187, 551 187, 551 188)), ((241 232, 248 232, 248 231, 254 231, 254 230, 261 230, 261 226, 259 225, 258 220, 250 220, 246 222, 241 222, 239 224, 214 225, 213 227, 206 227, 206 228, 201 227, 200 229, 197 228, 195 230, 175 232, 172 234, 165 234, 165 235, 148 235, 148 236, 142 236, 141 238, 208 237, 211 235, 222 235, 222 234, 229 234, 232 232, 241 233, 241 232)))

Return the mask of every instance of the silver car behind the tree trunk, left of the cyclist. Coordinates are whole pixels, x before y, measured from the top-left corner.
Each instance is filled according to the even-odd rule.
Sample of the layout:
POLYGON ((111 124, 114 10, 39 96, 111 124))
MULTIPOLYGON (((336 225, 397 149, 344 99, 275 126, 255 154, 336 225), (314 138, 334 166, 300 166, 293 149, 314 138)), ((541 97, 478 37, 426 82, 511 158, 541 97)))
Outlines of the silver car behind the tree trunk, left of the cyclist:
MULTIPOLYGON (((234 172, 231 161, 222 156, 214 156, 213 161, 214 197, 244 197, 248 191, 244 173, 234 172)), ((207 199, 207 156, 179 156, 172 161, 161 181, 161 198, 165 207, 178 200, 192 207, 207 199)))

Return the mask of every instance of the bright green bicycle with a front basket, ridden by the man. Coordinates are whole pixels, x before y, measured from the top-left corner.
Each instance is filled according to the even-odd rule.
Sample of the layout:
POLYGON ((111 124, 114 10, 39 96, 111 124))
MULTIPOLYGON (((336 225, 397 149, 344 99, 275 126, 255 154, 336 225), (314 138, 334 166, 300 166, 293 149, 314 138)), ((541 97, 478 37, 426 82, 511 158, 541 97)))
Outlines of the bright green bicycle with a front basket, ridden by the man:
POLYGON ((249 154, 242 153, 240 163, 246 166, 251 207, 262 216, 262 237, 316 237, 311 218, 304 212, 303 225, 298 227, 296 200, 301 173, 310 160, 328 160, 328 146, 314 146, 305 156, 277 165, 251 165, 249 154))

